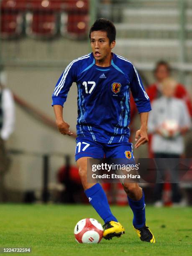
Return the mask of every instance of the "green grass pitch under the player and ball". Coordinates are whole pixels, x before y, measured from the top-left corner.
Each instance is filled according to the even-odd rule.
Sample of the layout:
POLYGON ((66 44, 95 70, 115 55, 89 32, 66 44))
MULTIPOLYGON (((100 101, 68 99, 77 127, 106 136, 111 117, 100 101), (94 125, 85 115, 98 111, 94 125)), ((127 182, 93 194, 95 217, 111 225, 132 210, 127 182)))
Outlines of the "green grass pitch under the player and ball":
POLYGON ((0 247, 31 247, 28 255, 37 256, 192 255, 192 208, 147 206, 146 223, 155 244, 140 241, 129 207, 111 209, 125 227, 125 235, 90 245, 78 244, 73 234, 75 224, 83 218, 103 224, 90 205, 0 205, 0 247))

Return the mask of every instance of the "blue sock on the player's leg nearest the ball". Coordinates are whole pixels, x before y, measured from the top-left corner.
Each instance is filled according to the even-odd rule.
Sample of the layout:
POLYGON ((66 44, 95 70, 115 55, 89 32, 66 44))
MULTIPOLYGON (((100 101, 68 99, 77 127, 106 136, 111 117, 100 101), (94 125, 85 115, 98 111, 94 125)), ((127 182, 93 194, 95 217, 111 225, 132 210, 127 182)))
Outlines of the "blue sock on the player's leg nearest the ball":
POLYGON ((105 223, 111 220, 118 222, 110 210, 108 199, 99 183, 95 184, 89 189, 86 189, 84 192, 92 207, 96 210, 105 223))

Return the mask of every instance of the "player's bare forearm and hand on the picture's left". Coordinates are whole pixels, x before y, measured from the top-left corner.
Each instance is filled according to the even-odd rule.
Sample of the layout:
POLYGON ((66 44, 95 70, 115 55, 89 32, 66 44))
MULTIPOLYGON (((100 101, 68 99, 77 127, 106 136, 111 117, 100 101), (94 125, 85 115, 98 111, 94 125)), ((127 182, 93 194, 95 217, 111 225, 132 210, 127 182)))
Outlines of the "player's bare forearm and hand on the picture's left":
POLYGON ((63 107, 61 105, 54 105, 54 113, 56 118, 56 125, 63 135, 72 135, 69 131, 69 124, 63 120, 63 107))

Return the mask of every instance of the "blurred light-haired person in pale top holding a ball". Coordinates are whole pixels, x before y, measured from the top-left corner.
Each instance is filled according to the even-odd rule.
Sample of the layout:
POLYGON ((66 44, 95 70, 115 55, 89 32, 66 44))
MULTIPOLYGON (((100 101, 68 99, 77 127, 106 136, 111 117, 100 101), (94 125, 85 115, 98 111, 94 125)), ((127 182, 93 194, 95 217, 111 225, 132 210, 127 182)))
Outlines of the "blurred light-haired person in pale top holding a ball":
MULTIPOLYGON (((191 128, 191 119, 187 106, 183 100, 174 97, 177 90, 177 82, 172 78, 166 78, 161 82, 162 96, 152 103, 152 111, 149 114, 148 132, 153 134, 151 149, 154 157, 172 158, 173 165, 184 153, 183 135, 191 128)), ((161 162, 162 164, 162 162, 161 162)), ((162 178, 164 173, 161 171, 162 178)), ((172 202, 181 205, 182 196, 178 184, 177 170, 171 168, 171 176, 174 175, 172 183, 172 202)), ((155 206, 161 207, 163 183, 157 183, 154 189, 155 206)))

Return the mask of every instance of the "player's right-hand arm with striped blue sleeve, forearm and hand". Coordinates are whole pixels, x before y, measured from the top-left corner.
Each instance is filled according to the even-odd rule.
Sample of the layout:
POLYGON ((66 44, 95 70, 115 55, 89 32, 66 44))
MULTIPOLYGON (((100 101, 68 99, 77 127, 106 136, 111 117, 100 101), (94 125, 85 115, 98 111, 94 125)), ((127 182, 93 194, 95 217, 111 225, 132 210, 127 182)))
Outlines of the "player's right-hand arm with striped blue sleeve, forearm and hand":
POLYGON ((132 66, 132 79, 130 83, 130 89, 133 95, 133 99, 136 103, 136 107, 138 113, 140 115, 141 127, 138 131, 136 131, 136 145, 135 148, 138 148, 142 144, 148 142, 148 135, 147 135, 147 123, 148 123, 148 112, 151 111, 151 104, 149 97, 143 87, 141 82, 141 78, 135 69, 132 66))

